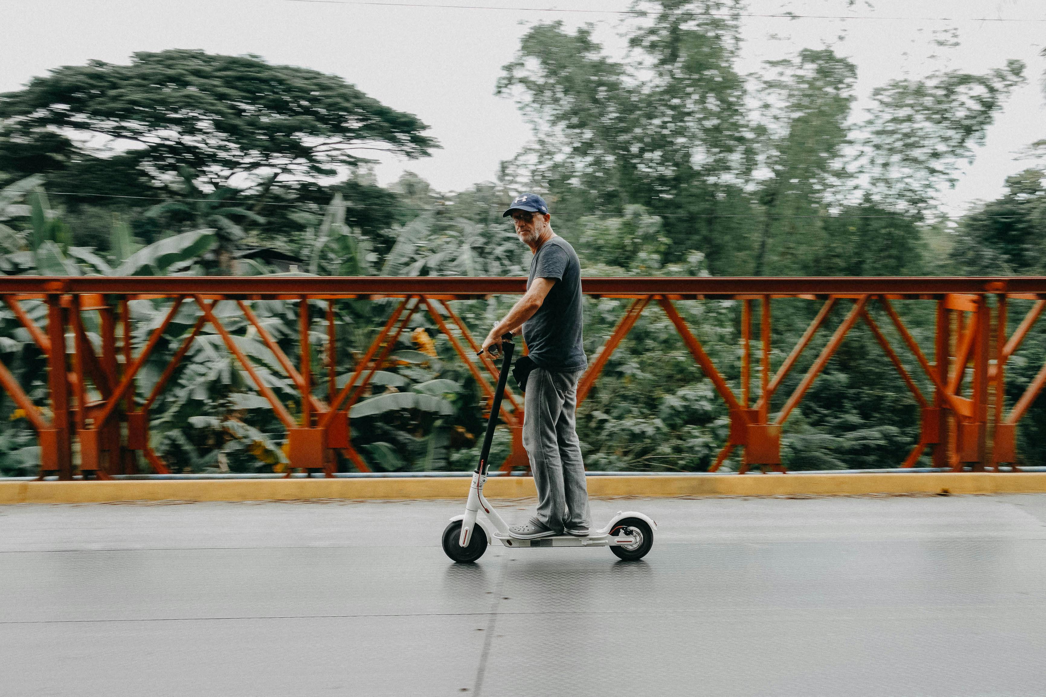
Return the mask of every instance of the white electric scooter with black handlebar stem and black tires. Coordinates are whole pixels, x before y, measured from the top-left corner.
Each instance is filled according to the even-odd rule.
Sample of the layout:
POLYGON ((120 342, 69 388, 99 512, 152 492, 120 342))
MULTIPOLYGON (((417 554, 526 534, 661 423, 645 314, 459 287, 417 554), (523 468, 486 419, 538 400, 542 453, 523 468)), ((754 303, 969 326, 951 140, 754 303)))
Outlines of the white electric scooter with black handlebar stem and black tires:
POLYGON ((508 379, 508 368, 513 362, 513 335, 502 336, 504 357, 501 361, 501 373, 498 375, 498 387, 494 392, 494 402, 491 404, 491 418, 486 422, 486 435, 483 447, 479 452, 479 464, 472 474, 472 487, 469 489, 469 501, 464 506, 463 515, 455 515, 444 530, 444 552, 454 561, 468 563, 476 561, 486 552, 486 545, 498 540, 505 547, 609 547, 618 558, 626 561, 642 559, 654 545, 654 531, 657 524, 653 518, 635 511, 618 511, 617 514, 601 530, 593 531, 588 537, 573 535, 556 535, 539 539, 516 539, 508 533, 508 526, 490 502, 483 497, 483 485, 486 483, 486 458, 491 454, 491 441, 494 428, 498 423, 498 413, 501 410, 501 398, 505 393, 505 382, 508 379), (480 518, 483 510, 485 518, 480 518))

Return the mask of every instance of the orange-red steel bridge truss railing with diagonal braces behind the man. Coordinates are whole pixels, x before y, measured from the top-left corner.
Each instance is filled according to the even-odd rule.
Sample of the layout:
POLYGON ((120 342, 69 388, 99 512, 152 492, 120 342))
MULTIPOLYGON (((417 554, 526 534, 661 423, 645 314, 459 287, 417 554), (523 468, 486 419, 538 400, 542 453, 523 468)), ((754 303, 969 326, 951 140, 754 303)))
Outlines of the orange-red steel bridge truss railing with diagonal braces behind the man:
MULTIPOLYGON (((780 459, 781 427, 824 369, 847 333, 865 324, 907 385, 922 412, 918 442, 904 461, 913 467, 927 448, 937 467, 961 470, 999 469, 1015 463, 1016 431, 1028 408, 1046 385, 1046 366, 1008 411, 1005 410, 1005 365, 1020 348, 1046 307, 1046 278, 586 278, 590 297, 623 298, 632 302, 578 385, 577 400, 590 393, 615 348, 640 316, 663 311, 682 338, 704 375, 711 380, 730 414, 727 442, 710 467, 718 470, 731 451, 740 448, 744 473, 750 467, 783 471, 780 459), (799 298, 819 303, 820 309, 798 343, 778 366, 771 365, 771 330, 774 300, 799 298), (724 378, 684 318, 677 303, 685 300, 730 299, 742 303, 740 385, 735 391, 724 378), (909 300, 932 301, 936 307, 934 344, 929 357, 896 311, 909 300), (1007 334, 1007 307, 1030 301, 1030 308, 1011 334, 1007 334), (845 310, 826 345, 820 350, 798 386, 776 411, 771 399, 796 366, 800 355, 825 327, 835 307, 845 310), (891 345, 869 309, 885 313, 904 349, 891 345), (758 317, 757 330, 753 327, 758 317), (756 335, 758 340, 756 340, 756 335), (753 356, 752 344, 759 346, 753 356), (901 351, 899 353, 899 350, 901 351), (932 394, 924 394, 905 367, 902 354, 918 365, 932 394), (752 388, 753 362, 758 363, 759 386, 752 388), (964 382, 969 379, 969 388, 964 382)), ((318 278, 318 277, 2 277, 0 297, 28 331, 49 366, 49 414, 36 404, 0 362, 0 386, 36 429, 41 447, 41 477, 71 479, 75 469, 85 479, 138 471, 141 452, 153 471, 165 473, 167 465, 150 447, 149 412, 175 373, 192 341, 205 325, 221 336, 258 392, 269 401, 288 432, 292 469, 335 471, 340 451, 359 470, 369 471, 353 447, 348 410, 365 395, 376 371, 389 359, 397 340, 417 312, 428 313, 450 341, 455 352, 483 390, 493 396, 497 368, 487 357, 476 357, 479 343, 452 302, 495 295, 519 295, 522 278, 318 278), (342 299, 395 299, 387 318, 348 380, 335 389, 334 307, 342 299), (168 302, 162 321, 144 345, 128 341, 132 319, 128 302, 151 299, 168 302), (38 325, 22 303, 43 301, 44 326, 38 325), (295 366, 251 309, 256 300, 297 301, 299 305, 300 361, 295 366), (328 394, 315 395, 313 361, 308 341, 314 318, 309 301, 327 301, 325 324, 328 394), (266 385, 256 367, 215 315, 219 302, 235 305, 272 351, 298 391, 299 416, 295 418, 266 385), (199 308, 199 319, 149 394, 136 389, 136 375, 152 354, 176 312, 186 303, 199 308), (100 352, 84 329, 85 313, 97 312, 100 352), (93 385, 93 391, 89 390, 93 385), (78 447, 74 448, 74 442, 78 447), (74 451, 77 457, 74 459, 74 451)), ((882 317, 883 315, 880 315, 882 317)), ((227 315, 223 315, 227 317, 227 315)), ((883 321, 883 320, 881 320, 883 321)), ((485 329, 485 328, 484 328, 485 329)), ((920 378, 922 379, 922 378, 920 378)), ((526 468, 522 444, 523 400, 510 391, 501 416, 513 434, 511 455, 503 470, 526 468)), ((1017 469, 1015 466, 1013 469, 1017 469)), ((289 474, 290 474, 289 470, 289 474)))

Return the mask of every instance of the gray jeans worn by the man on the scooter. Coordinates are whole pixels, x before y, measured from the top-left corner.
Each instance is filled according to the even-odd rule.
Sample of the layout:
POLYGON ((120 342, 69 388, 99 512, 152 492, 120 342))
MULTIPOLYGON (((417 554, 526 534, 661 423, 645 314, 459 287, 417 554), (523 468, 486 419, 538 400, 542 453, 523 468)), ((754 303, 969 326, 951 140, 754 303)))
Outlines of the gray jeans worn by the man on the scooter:
POLYGON ((585 463, 574 429, 582 372, 535 368, 523 402, 523 447, 538 487, 536 519, 556 532, 589 526, 585 463))

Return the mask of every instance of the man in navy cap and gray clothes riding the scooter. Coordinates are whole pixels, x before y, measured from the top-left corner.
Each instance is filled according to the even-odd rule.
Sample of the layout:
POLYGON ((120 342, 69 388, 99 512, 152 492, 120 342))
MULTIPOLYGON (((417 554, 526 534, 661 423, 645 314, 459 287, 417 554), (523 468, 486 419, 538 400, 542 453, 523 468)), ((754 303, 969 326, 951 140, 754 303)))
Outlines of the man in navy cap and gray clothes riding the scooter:
POLYGON ((527 291, 483 341, 498 350, 501 336, 519 333, 535 369, 523 402, 523 446, 538 487, 538 511, 509 529, 518 539, 589 534, 585 463, 574 429, 577 379, 588 365, 582 345, 582 269, 574 248, 552 232, 545 200, 524 193, 503 217, 511 216, 516 234, 533 252, 527 291))

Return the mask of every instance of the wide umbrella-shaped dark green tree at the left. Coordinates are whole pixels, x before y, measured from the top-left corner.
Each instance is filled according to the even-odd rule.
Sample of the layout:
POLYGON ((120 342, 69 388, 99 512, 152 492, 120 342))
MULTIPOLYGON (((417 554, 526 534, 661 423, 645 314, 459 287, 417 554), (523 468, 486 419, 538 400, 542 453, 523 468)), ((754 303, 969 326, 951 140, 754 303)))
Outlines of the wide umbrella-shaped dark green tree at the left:
POLYGON ((59 68, 0 94, 0 120, 5 168, 74 182, 116 168, 157 188, 176 184, 181 167, 209 190, 300 185, 344 173, 368 150, 417 158, 437 146, 416 117, 337 75, 200 50, 59 68))

